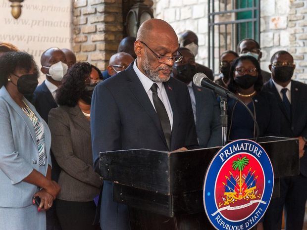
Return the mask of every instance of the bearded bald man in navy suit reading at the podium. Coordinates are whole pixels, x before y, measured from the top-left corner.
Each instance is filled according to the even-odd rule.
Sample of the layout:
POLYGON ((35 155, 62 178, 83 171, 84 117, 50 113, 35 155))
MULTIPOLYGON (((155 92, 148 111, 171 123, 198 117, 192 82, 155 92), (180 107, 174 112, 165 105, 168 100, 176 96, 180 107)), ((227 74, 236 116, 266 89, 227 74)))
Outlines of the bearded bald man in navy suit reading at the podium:
MULTIPOLYGON (((175 31, 163 20, 147 20, 134 47, 137 60, 103 81, 93 93, 91 133, 96 170, 103 151, 173 151, 198 145, 188 89, 170 78, 173 63, 182 58, 175 31)), ((103 230, 130 230, 127 206, 113 202, 112 183, 107 181, 100 221, 103 230)), ((175 224, 173 218, 165 217, 163 222, 158 223, 161 229, 175 224)))

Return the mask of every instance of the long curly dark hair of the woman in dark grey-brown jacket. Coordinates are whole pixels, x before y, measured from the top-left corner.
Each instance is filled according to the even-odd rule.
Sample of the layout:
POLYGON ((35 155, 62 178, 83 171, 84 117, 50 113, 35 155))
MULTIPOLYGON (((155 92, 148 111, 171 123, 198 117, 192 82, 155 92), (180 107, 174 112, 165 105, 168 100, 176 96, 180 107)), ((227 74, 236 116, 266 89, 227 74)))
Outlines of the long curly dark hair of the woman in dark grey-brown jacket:
POLYGON ((56 102, 59 105, 75 107, 84 93, 85 79, 90 76, 91 72, 92 65, 88 62, 78 62, 72 65, 57 90, 56 102))

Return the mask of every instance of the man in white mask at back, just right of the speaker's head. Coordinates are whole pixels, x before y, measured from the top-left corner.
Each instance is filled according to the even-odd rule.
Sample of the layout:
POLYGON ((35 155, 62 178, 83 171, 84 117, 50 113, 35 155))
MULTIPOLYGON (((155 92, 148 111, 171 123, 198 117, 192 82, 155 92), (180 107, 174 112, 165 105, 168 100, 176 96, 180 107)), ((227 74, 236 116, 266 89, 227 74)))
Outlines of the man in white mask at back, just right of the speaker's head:
MULTIPOLYGON (((179 42, 181 47, 190 49, 193 55, 196 57, 198 53, 198 37, 193 31, 188 30, 180 34, 179 42)), ((211 81, 214 80, 212 70, 204 65, 196 63, 196 72, 204 73, 211 81)))

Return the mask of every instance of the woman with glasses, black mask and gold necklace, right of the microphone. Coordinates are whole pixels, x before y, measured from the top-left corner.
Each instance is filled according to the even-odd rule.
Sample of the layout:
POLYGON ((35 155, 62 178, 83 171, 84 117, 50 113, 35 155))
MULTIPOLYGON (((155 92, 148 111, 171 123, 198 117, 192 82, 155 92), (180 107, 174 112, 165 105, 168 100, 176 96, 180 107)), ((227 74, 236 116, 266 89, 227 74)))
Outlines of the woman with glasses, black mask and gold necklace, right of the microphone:
MULTIPOLYGON (((252 56, 240 56, 230 68, 228 89, 235 93, 252 111, 259 125, 259 137, 279 136, 279 108, 276 98, 262 92, 259 62, 252 56)), ((228 138, 255 138, 256 127, 246 108, 234 99, 228 100, 228 138)))

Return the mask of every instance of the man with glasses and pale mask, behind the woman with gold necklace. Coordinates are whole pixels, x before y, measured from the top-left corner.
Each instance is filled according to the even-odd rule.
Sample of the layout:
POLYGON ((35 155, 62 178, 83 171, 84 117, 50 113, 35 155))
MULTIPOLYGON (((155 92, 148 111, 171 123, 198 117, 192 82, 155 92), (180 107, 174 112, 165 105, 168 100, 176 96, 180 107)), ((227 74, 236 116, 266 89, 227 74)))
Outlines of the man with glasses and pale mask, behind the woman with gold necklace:
MULTIPOLYGON (((237 46, 237 53, 242 55, 250 55, 255 57, 258 62, 260 62, 260 59, 262 57, 262 52, 260 50, 259 44, 254 39, 243 39, 239 42, 237 46)), ((269 72, 266 72, 264 70, 261 70, 262 80, 263 83, 267 82, 271 78, 271 74, 269 72)))

